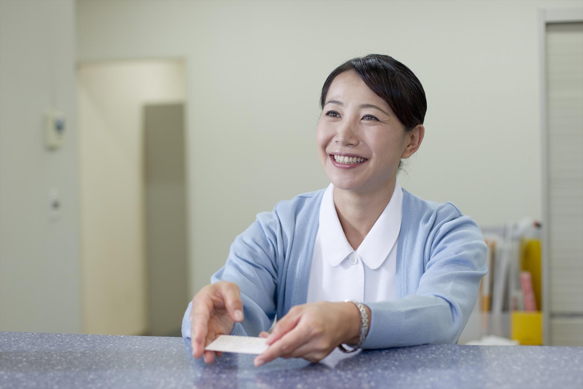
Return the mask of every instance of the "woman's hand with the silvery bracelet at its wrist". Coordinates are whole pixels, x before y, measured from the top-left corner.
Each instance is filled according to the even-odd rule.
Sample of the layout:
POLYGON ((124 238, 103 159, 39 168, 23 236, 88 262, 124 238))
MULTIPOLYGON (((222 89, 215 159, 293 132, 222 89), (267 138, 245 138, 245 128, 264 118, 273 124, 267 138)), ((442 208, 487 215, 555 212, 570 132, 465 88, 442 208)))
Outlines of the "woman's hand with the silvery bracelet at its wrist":
MULTIPOLYGON (((278 320, 267 338, 269 348, 254 363, 261 366, 278 356, 318 362, 339 344, 356 344, 359 334, 360 311, 353 303, 298 305, 278 320)), ((266 332, 259 336, 265 337, 266 332)))

